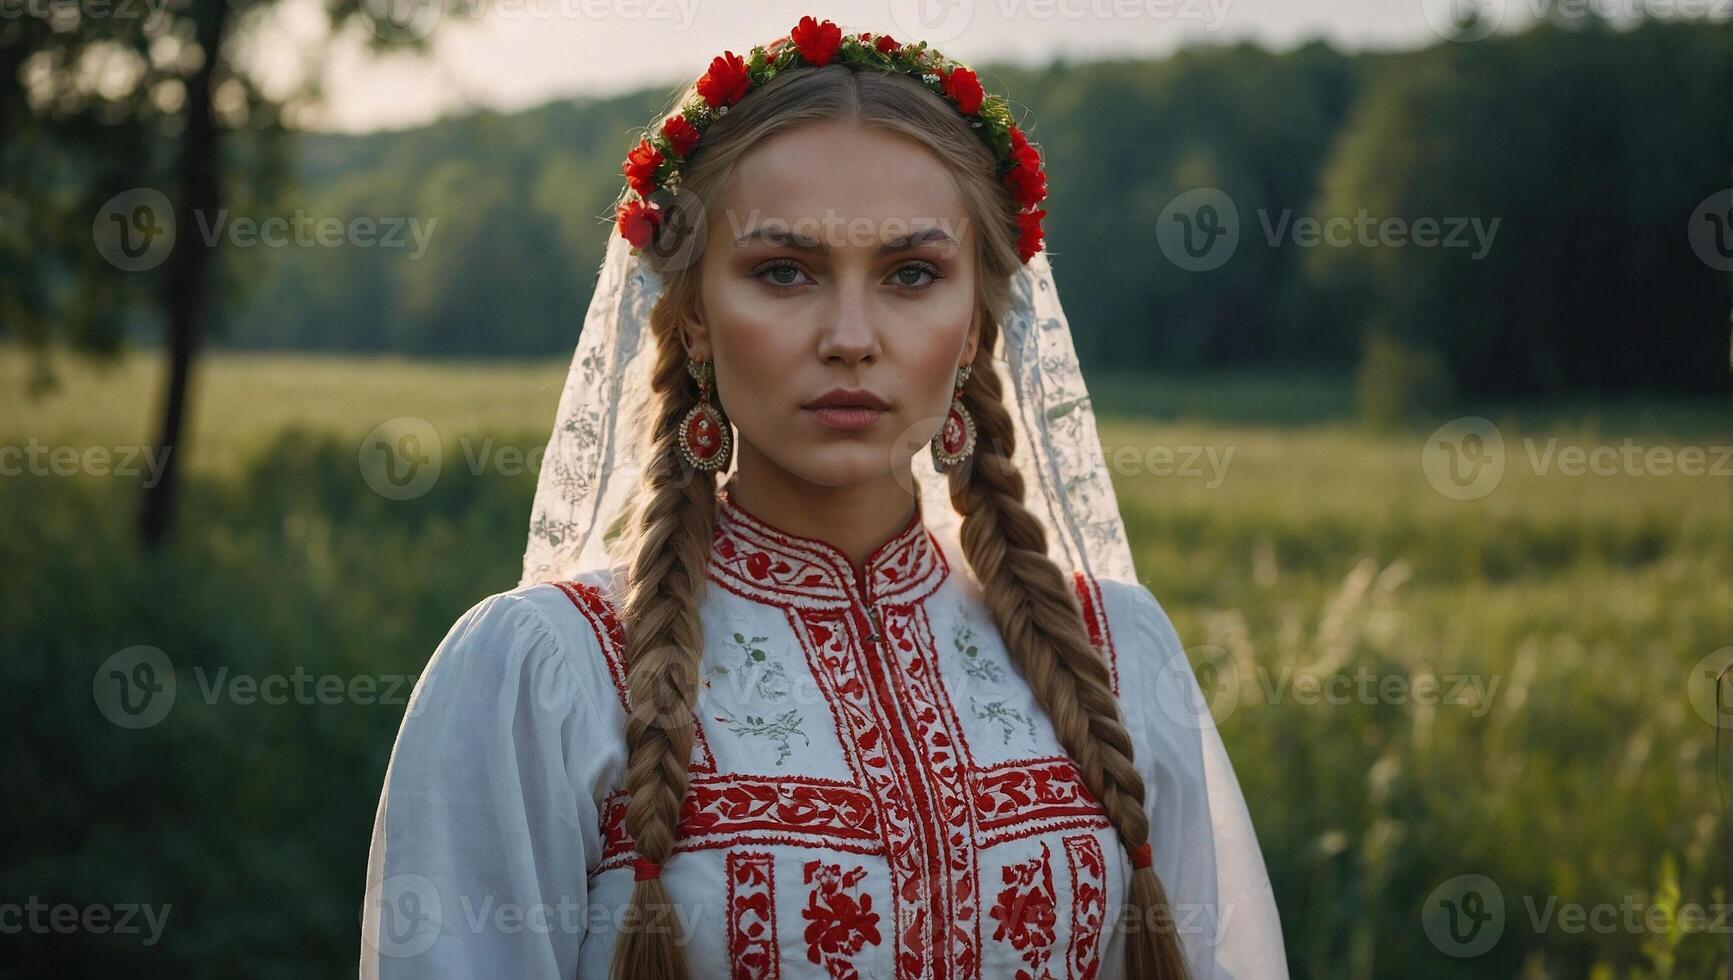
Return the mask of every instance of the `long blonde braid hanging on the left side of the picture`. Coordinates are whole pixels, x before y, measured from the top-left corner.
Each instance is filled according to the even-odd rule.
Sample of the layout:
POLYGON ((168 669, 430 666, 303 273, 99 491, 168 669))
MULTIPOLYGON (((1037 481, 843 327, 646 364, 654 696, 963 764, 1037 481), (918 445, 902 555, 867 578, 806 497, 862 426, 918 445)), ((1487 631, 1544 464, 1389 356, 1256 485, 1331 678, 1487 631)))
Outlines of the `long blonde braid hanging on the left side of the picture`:
MULTIPOLYGON (((638 501, 636 545, 624 598, 626 831, 638 857, 662 864, 674 852, 686 796, 704 633, 698 602, 716 522, 716 475, 679 458, 678 432, 697 404, 686 354, 662 338, 652 380, 657 408, 638 501)), ((660 878, 639 879, 613 949, 615 980, 685 980, 686 956, 674 935, 678 916, 660 878)))

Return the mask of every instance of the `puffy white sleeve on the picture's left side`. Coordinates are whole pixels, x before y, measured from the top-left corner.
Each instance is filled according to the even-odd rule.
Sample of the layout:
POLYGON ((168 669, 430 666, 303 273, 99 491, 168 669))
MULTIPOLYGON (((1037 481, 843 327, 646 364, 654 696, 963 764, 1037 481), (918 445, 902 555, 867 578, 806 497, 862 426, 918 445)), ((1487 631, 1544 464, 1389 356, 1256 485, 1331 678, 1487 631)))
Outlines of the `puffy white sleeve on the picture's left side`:
POLYGON ((587 907, 574 791, 591 716, 535 602, 492 595, 416 683, 374 817, 364 980, 570 978, 587 907))

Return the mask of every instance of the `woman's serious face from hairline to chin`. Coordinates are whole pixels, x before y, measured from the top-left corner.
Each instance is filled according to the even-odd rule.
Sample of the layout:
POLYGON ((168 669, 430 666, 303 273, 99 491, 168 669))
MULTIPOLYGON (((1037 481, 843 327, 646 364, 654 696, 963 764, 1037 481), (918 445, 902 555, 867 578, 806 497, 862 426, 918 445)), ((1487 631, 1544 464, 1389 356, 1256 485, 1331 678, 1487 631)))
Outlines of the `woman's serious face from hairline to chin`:
POLYGON ((707 220, 688 352, 716 363, 742 472, 906 480, 979 342, 976 229, 944 165, 891 132, 808 125, 749 151, 707 220), (882 406, 813 406, 835 389, 882 406))

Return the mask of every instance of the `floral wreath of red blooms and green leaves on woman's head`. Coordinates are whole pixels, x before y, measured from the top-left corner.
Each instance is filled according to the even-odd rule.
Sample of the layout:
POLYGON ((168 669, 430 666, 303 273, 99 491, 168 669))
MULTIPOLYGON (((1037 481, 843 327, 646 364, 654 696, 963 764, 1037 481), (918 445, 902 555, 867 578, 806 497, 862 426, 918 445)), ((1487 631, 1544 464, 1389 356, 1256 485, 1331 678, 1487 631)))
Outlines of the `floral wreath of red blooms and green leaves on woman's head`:
POLYGON ((655 239, 665 212, 652 201, 659 189, 679 186, 679 165, 698 149, 704 130, 728 113, 728 108, 775 78, 787 68, 865 64, 898 71, 922 82, 934 94, 957 106, 969 127, 998 160, 998 177, 1017 203, 1017 255, 1028 262, 1042 250, 1042 219, 1036 205, 1047 198, 1047 172, 1042 154, 1010 118, 1010 106, 981 88, 974 69, 955 62, 920 43, 898 43, 889 35, 844 35, 832 21, 801 17, 787 36, 756 45, 745 59, 728 50, 711 61, 698 80, 698 97, 662 120, 660 132, 638 140, 626 156, 620 173, 631 196, 615 208, 615 227, 633 245, 633 255, 655 239))

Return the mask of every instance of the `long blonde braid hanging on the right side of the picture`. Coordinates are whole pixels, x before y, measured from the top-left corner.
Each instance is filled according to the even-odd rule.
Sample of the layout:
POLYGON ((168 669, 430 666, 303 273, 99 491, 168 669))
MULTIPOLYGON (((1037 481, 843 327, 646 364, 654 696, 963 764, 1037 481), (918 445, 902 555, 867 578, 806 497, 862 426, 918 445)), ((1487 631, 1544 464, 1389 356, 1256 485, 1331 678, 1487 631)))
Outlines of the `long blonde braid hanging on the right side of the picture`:
MULTIPOLYGON (((1120 841, 1135 850, 1149 841, 1144 777, 1132 761, 1132 735, 1113 696, 1107 661, 1088 642, 1076 593, 1047 557, 1045 529, 1022 503, 1022 474, 1012 463, 1016 434, 991 361, 996 335, 996 324, 983 321, 979 354, 964 387, 977 439, 965 468, 951 479, 951 503, 964 517, 958 538, 1012 664, 1120 841)), ((1152 867, 1132 871, 1126 918, 1133 923, 1126 977, 1189 977, 1173 911, 1152 867)))

